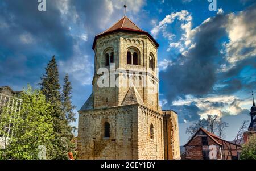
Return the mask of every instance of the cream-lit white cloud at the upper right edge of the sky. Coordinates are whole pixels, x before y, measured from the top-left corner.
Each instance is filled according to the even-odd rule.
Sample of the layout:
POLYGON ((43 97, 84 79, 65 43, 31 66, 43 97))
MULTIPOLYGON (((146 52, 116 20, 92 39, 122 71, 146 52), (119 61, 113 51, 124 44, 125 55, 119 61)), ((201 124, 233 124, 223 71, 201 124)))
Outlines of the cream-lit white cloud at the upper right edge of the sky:
POLYGON ((238 61, 256 56, 256 9, 228 15, 226 25, 229 42, 223 46, 231 66, 238 61))

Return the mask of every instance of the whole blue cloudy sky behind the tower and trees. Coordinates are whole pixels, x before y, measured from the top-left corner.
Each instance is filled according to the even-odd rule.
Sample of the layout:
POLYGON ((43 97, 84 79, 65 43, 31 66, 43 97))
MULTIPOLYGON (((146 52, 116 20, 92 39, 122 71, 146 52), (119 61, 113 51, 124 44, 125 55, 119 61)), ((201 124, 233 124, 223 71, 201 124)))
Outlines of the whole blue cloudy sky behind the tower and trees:
MULTIPOLYGON (((160 44, 160 105, 179 114, 185 128, 208 114, 219 115, 233 140, 249 120, 256 91, 256 1, 217 0, 36 0, 0 1, 0 86, 39 87, 44 67, 56 56, 61 84, 65 73, 80 109, 92 91, 94 36, 127 16, 160 44)), ((75 125, 77 124, 74 123, 75 125)))

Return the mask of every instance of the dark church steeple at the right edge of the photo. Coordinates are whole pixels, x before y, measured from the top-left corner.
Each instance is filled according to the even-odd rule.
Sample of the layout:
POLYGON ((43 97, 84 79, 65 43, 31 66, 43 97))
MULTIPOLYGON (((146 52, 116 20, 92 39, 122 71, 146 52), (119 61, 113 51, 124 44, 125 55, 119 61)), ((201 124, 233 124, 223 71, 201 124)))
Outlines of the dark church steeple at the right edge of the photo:
POLYGON ((251 107, 251 122, 248 128, 248 131, 246 131, 243 134, 243 141, 246 143, 249 139, 251 135, 256 135, 256 106, 255 106, 255 102, 254 102, 254 96, 253 96, 253 106, 251 107))

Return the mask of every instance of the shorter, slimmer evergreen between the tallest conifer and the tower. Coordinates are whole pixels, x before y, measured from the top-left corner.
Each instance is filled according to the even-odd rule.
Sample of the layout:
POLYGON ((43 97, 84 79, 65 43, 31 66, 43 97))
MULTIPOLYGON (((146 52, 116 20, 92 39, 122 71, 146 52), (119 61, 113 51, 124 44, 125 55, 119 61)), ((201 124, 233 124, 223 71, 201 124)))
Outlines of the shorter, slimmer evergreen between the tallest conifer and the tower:
POLYGON ((72 105, 71 98, 72 98, 72 85, 71 82, 68 80, 68 74, 66 74, 64 78, 64 85, 63 85, 63 91, 62 91, 62 107, 65 114, 65 117, 70 124, 71 122, 75 122, 75 113, 73 112, 73 109, 76 107, 72 105))

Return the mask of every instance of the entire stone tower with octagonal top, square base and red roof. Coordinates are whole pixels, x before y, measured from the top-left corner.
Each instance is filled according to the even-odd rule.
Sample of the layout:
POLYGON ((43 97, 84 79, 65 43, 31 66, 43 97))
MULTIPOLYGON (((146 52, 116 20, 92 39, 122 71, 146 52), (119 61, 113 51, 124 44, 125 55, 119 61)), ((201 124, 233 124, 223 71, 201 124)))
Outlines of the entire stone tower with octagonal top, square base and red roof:
MULTIPOLYGON (((126 16, 95 37, 93 91, 79 111, 79 159, 165 158, 158 47, 126 16)), ((171 141, 179 145, 179 135, 171 141)))

